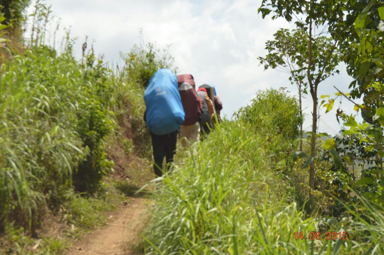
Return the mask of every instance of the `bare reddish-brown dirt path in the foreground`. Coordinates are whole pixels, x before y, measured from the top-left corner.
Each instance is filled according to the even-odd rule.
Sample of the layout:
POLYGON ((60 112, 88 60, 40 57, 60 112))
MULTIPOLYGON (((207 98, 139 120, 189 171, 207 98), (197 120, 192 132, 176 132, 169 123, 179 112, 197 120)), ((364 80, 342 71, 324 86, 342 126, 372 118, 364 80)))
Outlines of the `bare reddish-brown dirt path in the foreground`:
POLYGON ((142 226, 147 199, 129 199, 129 204, 111 214, 106 226, 83 236, 68 255, 132 255, 140 254, 130 247, 142 226))

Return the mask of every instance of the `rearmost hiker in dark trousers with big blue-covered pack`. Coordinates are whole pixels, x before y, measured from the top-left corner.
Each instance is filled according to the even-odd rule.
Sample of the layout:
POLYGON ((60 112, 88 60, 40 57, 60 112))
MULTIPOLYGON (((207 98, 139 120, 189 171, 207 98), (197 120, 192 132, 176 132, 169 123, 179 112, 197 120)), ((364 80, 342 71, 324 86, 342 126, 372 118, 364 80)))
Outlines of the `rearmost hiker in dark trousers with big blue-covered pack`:
POLYGON ((156 177, 162 176, 164 156, 167 170, 173 163, 177 133, 185 117, 176 75, 170 69, 159 69, 145 89, 144 100, 144 121, 152 138, 153 168, 156 177))

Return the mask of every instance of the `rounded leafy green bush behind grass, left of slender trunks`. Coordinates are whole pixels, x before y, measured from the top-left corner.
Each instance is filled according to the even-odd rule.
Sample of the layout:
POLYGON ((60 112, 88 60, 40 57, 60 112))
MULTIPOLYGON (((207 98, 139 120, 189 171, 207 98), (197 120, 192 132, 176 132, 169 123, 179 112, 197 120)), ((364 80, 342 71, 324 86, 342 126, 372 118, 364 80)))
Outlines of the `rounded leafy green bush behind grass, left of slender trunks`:
POLYGON ((290 155, 298 145, 300 124, 303 119, 298 102, 284 89, 259 91, 252 104, 239 109, 238 120, 250 123, 252 132, 263 133, 268 148, 273 152, 271 162, 277 169, 291 164, 290 155))

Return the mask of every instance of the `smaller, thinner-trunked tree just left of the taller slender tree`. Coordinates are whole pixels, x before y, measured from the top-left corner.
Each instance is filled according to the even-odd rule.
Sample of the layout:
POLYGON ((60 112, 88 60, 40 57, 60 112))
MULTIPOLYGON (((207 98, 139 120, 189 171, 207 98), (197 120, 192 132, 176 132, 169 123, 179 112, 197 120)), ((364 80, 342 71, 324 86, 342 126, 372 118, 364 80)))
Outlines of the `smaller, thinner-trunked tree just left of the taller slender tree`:
MULTIPOLYGON (((307 75, 305 66, 303 66, 301 53, 305 51, 302 47, 303 41, 308 41, 305 31, 301 29, 293 30, 290 32, 287 29, 278 30, 273 36, 275 40, 267 41, 265 49, 268 54, 259 57, 260 64, 264 64, 264 69, 269 67, 277 69, 278 71, 290 74, 291 84, 295 84, 299 92, 299 108, 300 108, 300 139, 303 138, 303 108, 302 108, 302 94, 307 92, 307 75), (301 49, 299 49, 301 48, 301 49)), ((300 140, 300 151, 303 150, 303 141, 300 140)))

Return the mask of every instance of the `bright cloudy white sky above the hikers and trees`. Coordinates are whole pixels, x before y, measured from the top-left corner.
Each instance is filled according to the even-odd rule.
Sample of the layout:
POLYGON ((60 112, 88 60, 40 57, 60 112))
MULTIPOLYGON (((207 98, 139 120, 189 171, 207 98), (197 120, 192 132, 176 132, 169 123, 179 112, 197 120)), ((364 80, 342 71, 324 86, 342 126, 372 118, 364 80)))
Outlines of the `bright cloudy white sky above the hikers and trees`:
MULTIPOLYGON (((290 84, 287 74, 274 69, 264 71, 257 60, 266 55, 265 42, 273 39, 278 29, 295 28, 284 19, 271 20, 270 16, 262 19, 257 13, 261 2, 46 0, 54 15, 54 21, 48 25, 47 40, 53 45, 53 32, 60 18, 61 32, 56 35, 56 41, 64 35, 63 28, 70 28, 71 37, 77 38, 74 44, 76 58, 81 58, 81 47, 88 36, 88 45, 95 41, 95 53, 103 54, 106 61, 116 65, 122 63, 119 52, 128 53, 134 44, 140 44, 141 30, 145 43, 155 43, 159 49, 169 46, 169 53, 178 67, 177 74, 192 74, 196 87, 214 84, 223 102, 221 113, 231 118, 240 107, 250 103, 258 90, 287 87, 291 95, 297 95, 297 88, 290 84)), ((32 10, 33 6, 28 12, 32 10)), ((338 70, 340 74, 319 84, 319 97, 334 95, 337 91, 333 86, 348 92, 352 79, 346 74, 344 65, 338 70)), ((340 104, 338 100, 328 114, 321 109, 319 132, 334 135, 339 131, 335 116, 339 106, 347 114, 356 114, 351 102, 343 99, 340 104)), ((306 114, 303 127, 310 131, 310 96, 303 99, 303 108, 306 114)))

